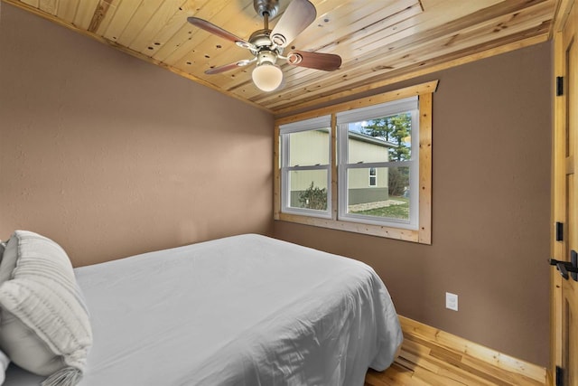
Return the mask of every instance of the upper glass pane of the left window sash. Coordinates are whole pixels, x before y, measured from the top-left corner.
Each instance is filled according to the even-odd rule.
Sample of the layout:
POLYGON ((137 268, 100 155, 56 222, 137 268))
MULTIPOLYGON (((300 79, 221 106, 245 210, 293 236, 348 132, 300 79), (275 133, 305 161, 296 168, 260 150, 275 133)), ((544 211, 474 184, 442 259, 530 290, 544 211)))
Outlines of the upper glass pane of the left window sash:
POLYGON ((328 129, 300 131, 288 134, 289 165, 312 166, 329 164, 328 129))

